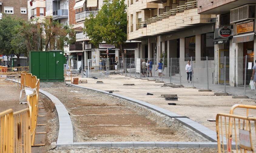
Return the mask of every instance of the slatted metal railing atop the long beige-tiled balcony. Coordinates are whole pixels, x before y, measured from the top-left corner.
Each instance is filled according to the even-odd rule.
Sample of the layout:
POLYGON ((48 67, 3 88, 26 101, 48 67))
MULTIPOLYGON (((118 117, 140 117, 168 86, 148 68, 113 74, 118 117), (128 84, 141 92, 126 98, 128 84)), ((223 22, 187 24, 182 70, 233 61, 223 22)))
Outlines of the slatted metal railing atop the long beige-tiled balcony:
POLYGON ((197 8, 197 1, 187 2, 185 3, 185 5, 177 6, 177 8, 171 9, 169 12, 164 12, 163 14, 157 15, 156 17, 149 18, 147 19, 147 21, 141 21, 136 26, 138 28, 144 28, 144 27, 147 27, 147 24, 162 20, 163 18, 168 18, 171 15, 176 15, 176 13, 183 12, 184 10, 187 10, 190 8, 197 8))

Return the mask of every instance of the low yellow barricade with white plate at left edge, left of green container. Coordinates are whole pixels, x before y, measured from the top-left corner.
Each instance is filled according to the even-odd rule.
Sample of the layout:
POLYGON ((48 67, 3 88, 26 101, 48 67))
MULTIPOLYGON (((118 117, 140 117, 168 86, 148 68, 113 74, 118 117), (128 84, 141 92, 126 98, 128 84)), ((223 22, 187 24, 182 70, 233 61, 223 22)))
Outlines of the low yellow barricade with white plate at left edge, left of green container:
POLYGON ((0 84, 17 84, 17 86, 19 87, 19 73, 0 73, 0 84), (17 82, 10 81, 7 79, 15 80, 17 82))

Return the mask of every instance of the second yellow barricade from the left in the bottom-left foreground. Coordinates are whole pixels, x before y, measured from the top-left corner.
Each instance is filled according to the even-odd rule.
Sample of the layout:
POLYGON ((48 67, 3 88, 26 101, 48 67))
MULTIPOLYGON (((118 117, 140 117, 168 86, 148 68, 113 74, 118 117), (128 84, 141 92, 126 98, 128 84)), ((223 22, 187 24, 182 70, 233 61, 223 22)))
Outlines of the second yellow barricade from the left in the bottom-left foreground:
POLYGON ((31 152, 31 120, 29 109, 13 113, 15 121, 15 152, 31 152))

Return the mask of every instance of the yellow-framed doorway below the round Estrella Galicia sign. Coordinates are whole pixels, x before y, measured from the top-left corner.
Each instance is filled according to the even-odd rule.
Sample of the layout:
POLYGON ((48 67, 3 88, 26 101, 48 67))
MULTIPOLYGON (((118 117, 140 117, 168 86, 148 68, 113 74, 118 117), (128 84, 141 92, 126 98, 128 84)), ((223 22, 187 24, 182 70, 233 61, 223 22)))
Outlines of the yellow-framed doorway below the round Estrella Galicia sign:
POLYGON ((229 84, 229 50, 220 49, 219 50, 219 83, 224 83, 224 65, 226 56, 226 83, 229 84))

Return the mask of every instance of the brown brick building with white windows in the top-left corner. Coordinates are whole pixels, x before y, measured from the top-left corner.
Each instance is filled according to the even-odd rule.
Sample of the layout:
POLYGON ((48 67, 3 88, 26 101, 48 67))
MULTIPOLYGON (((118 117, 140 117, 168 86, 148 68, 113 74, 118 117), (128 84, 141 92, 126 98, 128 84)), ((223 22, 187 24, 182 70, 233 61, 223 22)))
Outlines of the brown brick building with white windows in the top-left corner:
POLYGON ((21 18, 27 21, 27 18, 28 18, 27 0, 0 1, 0 19, 2 19, 2 13, 15 15, 17 18, 21 18))

